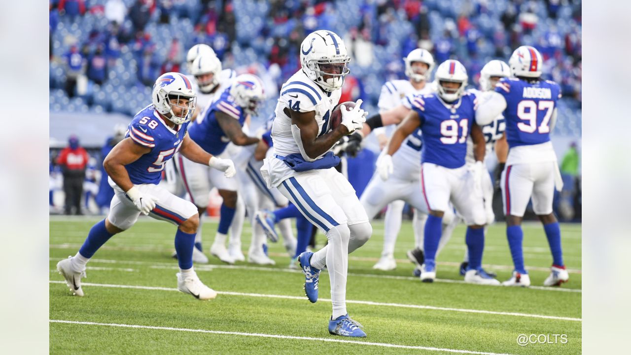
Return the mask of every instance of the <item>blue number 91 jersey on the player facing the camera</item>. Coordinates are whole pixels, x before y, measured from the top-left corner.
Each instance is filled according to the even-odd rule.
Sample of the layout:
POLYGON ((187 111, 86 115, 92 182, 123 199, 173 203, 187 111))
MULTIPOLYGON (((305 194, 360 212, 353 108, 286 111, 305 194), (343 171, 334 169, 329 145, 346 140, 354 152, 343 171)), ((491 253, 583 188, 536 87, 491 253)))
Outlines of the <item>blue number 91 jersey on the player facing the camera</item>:
POLYGON ((421 162, 432 163, 449 169, 464 165, 467 153, 467 137, 475 120, 475 95, 465 93, 455 104, 446 104, 436 93, 423 95, 424 110, 413 105, 418 113, 423 133, 421 162))

